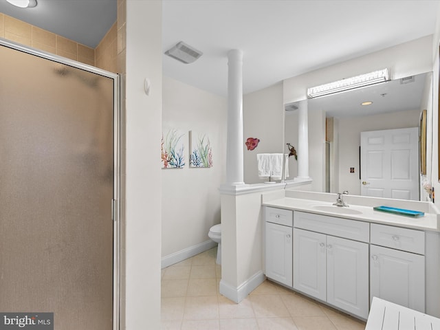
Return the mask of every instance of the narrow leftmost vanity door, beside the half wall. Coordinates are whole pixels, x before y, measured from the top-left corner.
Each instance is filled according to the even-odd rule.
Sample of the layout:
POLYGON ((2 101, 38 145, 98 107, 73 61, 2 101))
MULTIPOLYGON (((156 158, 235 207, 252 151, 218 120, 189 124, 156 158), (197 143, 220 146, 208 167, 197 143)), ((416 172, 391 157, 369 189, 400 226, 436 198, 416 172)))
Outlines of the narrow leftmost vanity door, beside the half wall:
POLYGON ((265 224, 266 276, 292 287, 292 227, 265 224))

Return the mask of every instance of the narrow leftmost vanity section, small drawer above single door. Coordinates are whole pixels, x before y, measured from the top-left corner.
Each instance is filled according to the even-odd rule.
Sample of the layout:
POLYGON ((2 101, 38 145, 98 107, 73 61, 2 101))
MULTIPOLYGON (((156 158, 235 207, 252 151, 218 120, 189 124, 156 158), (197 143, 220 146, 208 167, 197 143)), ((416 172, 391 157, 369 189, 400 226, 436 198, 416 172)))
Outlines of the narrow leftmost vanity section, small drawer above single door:
POLYGON ((265 274, 292 287, 293 212, 265 208, 265 274))

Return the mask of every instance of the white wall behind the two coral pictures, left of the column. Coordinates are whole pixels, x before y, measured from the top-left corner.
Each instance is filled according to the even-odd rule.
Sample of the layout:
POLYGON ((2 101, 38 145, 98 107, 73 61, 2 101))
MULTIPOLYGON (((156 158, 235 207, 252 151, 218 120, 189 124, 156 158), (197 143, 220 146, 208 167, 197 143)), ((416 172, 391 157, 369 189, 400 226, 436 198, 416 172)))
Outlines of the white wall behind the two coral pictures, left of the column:
MULTIPOLYGON (((209 241, 220 223, 219 186, 225 181, 226 99, 164 76, 162 126, 186 133, 184 168, 162 169, 162 257, 209 241), (189 167, 188 131, 207 133, 212 168, 189 167)), ((156 158, 159 163, 159 158, 156 158)))

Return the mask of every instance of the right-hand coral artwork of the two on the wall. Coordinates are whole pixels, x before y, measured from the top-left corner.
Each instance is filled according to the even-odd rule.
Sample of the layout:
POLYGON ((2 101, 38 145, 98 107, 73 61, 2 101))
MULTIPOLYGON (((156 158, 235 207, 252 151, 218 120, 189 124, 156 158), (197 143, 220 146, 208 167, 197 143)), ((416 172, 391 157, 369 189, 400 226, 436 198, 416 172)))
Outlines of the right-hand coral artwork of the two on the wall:
POLYGON ((190 131, 190 167, 212 167, 212 148, 206 133, 190 131))

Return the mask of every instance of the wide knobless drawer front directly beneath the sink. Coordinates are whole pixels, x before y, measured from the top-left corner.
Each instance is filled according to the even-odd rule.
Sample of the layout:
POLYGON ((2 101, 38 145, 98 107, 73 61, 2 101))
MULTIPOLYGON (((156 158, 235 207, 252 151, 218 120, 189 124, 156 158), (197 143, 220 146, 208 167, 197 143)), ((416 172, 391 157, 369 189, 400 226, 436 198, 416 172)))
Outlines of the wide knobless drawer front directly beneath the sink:
POLYGON ((295 227, 322 234, 369 243, 370 224, 364 221, 329 217, 327 215, 295 211, 295 227))

